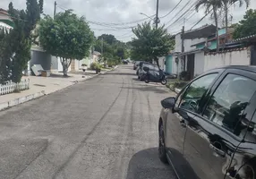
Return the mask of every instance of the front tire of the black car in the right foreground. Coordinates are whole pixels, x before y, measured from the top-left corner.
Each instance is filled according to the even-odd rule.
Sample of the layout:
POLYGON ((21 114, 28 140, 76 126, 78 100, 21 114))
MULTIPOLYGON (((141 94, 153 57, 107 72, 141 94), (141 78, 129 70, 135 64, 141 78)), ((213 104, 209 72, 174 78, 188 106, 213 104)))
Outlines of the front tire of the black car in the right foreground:
POLYGON ((165 143, 165 135, 164 135, 164 126, 160 124, 159 126, 159 140, 158 140, 158 158, 164 163, 167 164, 168 160, 166 157, 166 143, 165 143))

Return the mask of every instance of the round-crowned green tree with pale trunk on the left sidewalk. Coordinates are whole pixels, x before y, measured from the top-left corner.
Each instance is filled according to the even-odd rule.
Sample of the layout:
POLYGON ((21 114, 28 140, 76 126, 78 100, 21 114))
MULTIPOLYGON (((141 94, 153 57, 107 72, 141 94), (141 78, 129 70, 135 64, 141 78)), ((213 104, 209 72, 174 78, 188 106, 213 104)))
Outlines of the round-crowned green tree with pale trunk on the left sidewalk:
POLYGON ((46 16, 39 23, 39 43, 47 53, 61 58, 64 76, 73 59, 89 55, 93 32, 84 18, 71 10, 57 13, 55 19, 46 16))

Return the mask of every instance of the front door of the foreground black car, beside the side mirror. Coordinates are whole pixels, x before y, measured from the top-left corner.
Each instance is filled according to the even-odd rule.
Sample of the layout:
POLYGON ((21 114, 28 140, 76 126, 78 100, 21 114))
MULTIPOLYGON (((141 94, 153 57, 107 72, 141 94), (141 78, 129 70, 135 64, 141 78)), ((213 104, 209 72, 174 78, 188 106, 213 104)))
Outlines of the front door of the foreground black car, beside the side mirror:
MULTIPOLYGON (((169 110, 166 120, 166 148, 167 156, 171 160, 171 164, 175 167, 175 172, 180 178, 196 178, 191 170, 191 167, 187 167, 188 164, 183 158, 183 141, 185 137, 185 121, 190 121, 194 115, 187 113, 187 111, 193 110, 193 105, 200 103, 204 93, 209 90, 211 83, 218 77, 218 72, 213 72, 202 76, 201 78, 192 81, 190 85, 184 88, 175 102, 175 109, 169 110), (202 81, 207 83, 202 84, 202 81), (195 90, 195 87, 200 85, 200 90, 197 92, 196 97, 193 98, 192 103, 191 92, 195 90), (187 110, 184 110, 187 109, 187 110)), ((194 111, 195 112, 195 111, 194 111)))

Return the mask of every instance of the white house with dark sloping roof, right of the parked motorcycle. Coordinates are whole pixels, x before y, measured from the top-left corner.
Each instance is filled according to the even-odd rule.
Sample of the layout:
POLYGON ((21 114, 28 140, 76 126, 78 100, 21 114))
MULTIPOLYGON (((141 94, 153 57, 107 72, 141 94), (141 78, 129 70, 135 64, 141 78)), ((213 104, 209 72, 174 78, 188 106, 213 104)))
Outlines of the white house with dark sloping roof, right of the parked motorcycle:
MULTIPOLYGON (((207 38, 215 33, 214 25, 205 25, 196 30, 188 30, 175 35, 175 50, 169 55, 172 62, 172 72, 179 75, 180 72, 189 72, 190 78, 203 72, 204 47, 197 46, 207 41, 207 38), (182 45, 184 49, 182 49, 182 45)), ((168 62, 170 64, 170 62, 168 62)))

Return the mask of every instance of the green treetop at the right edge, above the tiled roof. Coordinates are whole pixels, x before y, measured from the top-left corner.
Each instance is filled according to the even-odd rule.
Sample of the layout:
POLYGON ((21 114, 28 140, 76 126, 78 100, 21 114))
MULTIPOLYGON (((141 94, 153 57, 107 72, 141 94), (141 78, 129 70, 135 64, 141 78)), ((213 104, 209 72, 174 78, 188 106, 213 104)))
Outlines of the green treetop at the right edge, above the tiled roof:
POLYGON ((233 38, 243 38, 256 34, 256 10, 248 10, 243 20, 235 25, 233 38))

